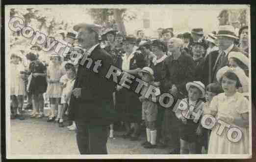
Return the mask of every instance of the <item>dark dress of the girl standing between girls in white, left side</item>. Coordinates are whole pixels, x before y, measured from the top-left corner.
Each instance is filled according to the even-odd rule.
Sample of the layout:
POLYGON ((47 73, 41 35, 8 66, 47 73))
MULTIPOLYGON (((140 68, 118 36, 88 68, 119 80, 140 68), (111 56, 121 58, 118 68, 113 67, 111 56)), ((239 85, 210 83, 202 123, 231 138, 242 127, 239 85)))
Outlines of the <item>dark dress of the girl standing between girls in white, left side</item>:
MULTIPOLYGON (((42 62, 36 60, 36 61, 30 62, 29 70, 31 71, 31 73, 45 73, 46 66, 44 66, 44 64, 42 62)), ((29 93, 32 95, 45 93, 47 90, 46 77, 43 77, 43 76, 33 77, 32 76, 28 90, 29 90, 29 93)))

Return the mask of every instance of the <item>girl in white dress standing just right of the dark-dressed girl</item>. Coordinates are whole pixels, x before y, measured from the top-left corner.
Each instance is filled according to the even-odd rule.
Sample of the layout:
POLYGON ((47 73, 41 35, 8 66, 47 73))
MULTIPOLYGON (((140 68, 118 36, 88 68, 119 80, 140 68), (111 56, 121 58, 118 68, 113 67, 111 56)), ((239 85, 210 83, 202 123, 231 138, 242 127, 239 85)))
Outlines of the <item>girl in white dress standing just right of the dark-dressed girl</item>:
POLYGON ((48 121, 59 121, 59 118, 55 117, 57 113, 55 110, 61 109, 60 99, 62 95, 62 87, 60 84, 60 78, 65 74, 63 66, 61 66, 61 56, 55 54, 54 52, 50 55, 51 57, 51 64, 47 68, 47 97, 50 99, 51 105, 51 116, 49 117, 48 121))

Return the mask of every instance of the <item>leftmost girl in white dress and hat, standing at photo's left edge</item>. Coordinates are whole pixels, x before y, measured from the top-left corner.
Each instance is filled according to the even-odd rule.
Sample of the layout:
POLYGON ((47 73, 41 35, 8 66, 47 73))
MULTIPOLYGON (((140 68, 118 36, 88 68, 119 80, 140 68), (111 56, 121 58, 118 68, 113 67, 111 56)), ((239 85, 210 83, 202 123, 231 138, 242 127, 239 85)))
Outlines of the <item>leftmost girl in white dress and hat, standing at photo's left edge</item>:
POLYGON ((11 51, 10 64, 10 96, 11 96, 11 119, 19 118, 24 120, 22 115, 22 107, 24 103, 25 91, 25 67, 22 63, 22 54, 19 50, 11 51), (17 115, 17 108, 20 115, 17 115))

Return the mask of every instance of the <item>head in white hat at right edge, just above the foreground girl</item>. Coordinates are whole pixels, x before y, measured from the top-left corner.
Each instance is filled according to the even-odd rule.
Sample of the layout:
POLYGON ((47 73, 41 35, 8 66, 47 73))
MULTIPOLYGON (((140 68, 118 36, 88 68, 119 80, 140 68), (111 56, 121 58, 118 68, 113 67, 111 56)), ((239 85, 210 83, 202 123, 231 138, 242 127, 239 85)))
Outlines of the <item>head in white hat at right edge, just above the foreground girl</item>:
POLYGON ((242 52, 230 52, 228 59, 230 67, 239 67, 249 76, 249 59, 242 52))

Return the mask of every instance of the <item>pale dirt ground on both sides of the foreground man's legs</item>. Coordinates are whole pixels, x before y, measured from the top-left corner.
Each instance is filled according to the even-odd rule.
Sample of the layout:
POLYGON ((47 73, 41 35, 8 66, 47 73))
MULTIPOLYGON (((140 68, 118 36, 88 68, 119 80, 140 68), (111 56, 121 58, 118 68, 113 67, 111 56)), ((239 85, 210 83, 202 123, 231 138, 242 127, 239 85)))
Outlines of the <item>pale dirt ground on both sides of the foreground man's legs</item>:
MULTIPOLYGON (((115 132, 114 139, 107 142, 108 154, 167 154, 168 149, 145 149, 140 141, 131 142, 120 136, 124 132, 115 132)), ((59 128, 57 123, 47 122, 47 118, 11 120, 12 155, 78 155, 75 131, 66 127, 59 128)))

